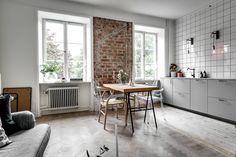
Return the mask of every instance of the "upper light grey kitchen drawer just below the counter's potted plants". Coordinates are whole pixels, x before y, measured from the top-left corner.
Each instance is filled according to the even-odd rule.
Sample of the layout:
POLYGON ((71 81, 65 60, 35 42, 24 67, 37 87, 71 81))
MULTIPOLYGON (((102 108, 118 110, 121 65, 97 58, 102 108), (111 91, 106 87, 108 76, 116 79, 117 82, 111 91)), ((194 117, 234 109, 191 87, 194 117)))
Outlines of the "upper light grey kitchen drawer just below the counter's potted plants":
POLYGON ((173 79, 173 91, 181 93, 190 93, 190 80, 183 78, 173 79))

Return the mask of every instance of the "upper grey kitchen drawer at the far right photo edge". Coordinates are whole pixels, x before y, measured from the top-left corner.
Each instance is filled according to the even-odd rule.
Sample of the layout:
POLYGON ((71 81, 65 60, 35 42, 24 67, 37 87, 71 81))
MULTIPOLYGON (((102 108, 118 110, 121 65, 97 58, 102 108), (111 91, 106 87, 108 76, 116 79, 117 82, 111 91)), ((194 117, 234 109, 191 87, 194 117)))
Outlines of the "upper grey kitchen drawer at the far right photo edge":
POLYGON ((209 80, 208 96, 236 100, 236 81, 209 80))

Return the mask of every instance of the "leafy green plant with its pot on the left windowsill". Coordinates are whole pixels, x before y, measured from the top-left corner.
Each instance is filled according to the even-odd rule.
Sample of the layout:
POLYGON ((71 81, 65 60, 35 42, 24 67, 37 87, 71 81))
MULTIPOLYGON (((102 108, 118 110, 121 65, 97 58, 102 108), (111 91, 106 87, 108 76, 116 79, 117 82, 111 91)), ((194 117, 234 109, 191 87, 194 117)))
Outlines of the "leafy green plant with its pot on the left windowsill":
POLYGON ((46 82, 55 82, 58 78, 57 74, 62 71, 62 67, 58 62, 48 62, 41 65, 40 72, 44 76, 46 82))

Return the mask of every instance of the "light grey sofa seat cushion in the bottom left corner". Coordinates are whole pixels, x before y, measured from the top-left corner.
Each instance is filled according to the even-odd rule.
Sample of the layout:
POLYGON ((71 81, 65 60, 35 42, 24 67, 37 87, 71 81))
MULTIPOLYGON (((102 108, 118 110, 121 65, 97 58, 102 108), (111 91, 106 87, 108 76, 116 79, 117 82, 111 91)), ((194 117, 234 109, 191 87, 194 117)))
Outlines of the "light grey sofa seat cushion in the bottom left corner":
POLYGON ((9 136, 13 143, 1 148, 0 156, 43 157, 50 133, 51 130, 47 124, 14 133, 9 136))

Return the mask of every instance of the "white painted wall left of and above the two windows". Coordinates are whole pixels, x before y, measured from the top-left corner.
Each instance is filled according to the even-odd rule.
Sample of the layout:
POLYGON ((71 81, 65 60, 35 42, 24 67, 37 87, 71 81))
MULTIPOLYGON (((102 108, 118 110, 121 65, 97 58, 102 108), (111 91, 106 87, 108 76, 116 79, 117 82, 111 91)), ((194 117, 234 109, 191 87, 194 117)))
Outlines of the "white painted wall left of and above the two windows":
MULTIPOLYGON (((2 74, 2 86, 32 87, 32 111, 34 113, 38 113, 36 108, 38 103, 38 94, 36 94, 36 91, 38 91, 38 10, 87 17, 99 16, 131 21, 140 25, 167 28, 166 19, 131 14, 65 0, 1 0, 0 73, 2 74)), ((168 25, 168 27, 166 31, 171 30, 171 26, 168 25)), ((169 41, 171 33, 171 31, 167 33, 166 41, 169 41)), ((168 43, 166 43, 166 47, 168 47, 168 43)), ((172 51, 171 49, 166 50, 172 51)), ((172 55, 172 52, 170 55, 172 55)))

